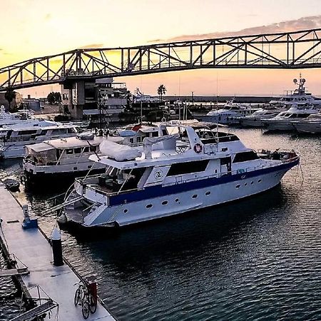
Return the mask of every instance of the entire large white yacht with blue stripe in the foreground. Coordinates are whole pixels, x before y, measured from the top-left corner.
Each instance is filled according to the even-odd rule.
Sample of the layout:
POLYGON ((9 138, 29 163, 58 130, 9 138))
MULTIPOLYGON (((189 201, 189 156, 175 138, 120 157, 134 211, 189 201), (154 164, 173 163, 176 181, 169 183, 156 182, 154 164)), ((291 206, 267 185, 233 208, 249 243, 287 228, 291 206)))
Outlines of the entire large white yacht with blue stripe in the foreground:
POLYGON ((198 210, 268 190, 299 163, 294 151, 256 153, 201 123, 179 125, 172 135, 161 125, 160 132, 143 148, 101 146, 90 159, 106 172, 76 178, 61 220, 116 227, 198 210))

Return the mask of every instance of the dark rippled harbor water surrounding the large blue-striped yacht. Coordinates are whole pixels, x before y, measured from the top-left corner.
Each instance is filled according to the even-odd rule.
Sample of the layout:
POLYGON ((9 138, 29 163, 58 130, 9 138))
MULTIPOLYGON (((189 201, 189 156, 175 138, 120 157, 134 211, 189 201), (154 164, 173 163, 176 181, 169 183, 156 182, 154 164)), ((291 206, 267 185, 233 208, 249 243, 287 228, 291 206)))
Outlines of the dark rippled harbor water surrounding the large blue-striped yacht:
MULTIPOLYGON (((63 231, 63 251, 119 320, 321 320, 321 138, 232 129, 249 147, 295 149, 300 168, 241 200, 96 237, 63 231)), ((2 164, 1 172, 19 168, 2 164)), ((41 215, 62 193, 17 193, 41 215)), ((0 280, 0 320, 19 310, 0 280)), ((71 297, 71 300, 73 298, 71 297)), ((19 300, 18 300, 19 301, 19 300)))

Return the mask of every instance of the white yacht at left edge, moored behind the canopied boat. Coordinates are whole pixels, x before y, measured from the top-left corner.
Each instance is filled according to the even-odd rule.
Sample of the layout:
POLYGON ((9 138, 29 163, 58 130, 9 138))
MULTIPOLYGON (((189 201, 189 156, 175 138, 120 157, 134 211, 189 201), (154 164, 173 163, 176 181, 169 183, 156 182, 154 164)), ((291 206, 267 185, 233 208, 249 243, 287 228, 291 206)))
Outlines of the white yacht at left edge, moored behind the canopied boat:
POLYGON ((78 128, 73 124, 39 121, 3 126, 0 128, 0 156, 2 158, 22 158, 26 145, 41 143, 56 138, 76 136, 78 128))

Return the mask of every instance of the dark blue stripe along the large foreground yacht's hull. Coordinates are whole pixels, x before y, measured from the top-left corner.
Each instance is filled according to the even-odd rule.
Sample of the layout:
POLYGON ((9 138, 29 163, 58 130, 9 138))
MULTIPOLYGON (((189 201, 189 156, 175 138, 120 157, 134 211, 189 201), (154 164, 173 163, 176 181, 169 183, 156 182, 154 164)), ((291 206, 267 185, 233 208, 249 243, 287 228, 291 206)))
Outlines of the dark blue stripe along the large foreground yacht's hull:
POLYGON ((109 205, 121 205, 125 201, 126 203, 136 202, 139 200, 146 200, 148 198, 156 198, 159 196, 170 195, 175 193, 182 193, 188 190, 195 190, 198 188, 205 188, 213 185, 220 185, 224 183, 233 182, 234 180, 240 180, 243 178, 255 177, 266 173, 277 172, 279 170, 290 169, 297 165, 299 160, 290 163, 284 163, 279 166, 273 166, 271 168, 263 168, 261 170, 253 170, 251 172, 240 173, 235 175, 225 175, 220 178, 205 178, 203 180, 194 180, 193 182, 180 183, 162 187, 162 185, 155 185, 144 190, 137 190, 131 193, 124 193, 120 195, 111 196, 109 198, 109 205), (245 175, 245 177, 244 177, 245 175))

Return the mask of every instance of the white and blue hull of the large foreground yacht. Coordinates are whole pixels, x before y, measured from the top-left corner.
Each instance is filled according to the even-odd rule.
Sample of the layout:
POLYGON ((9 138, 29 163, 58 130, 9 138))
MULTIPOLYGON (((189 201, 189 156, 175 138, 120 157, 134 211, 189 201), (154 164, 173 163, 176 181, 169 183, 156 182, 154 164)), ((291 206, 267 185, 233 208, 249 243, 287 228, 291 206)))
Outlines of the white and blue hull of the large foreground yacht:
POLYGON ((65 213, 68 220, 84 227, 126 226, 165 218, 262 193, 279 184, 287 170, 297 163, 118 195, 111 198, 107 206, 96 203, 94 210, 82 217, 79 215, 83 215, 83 208, 75 203, 72 208, 65 208, 65 213))

